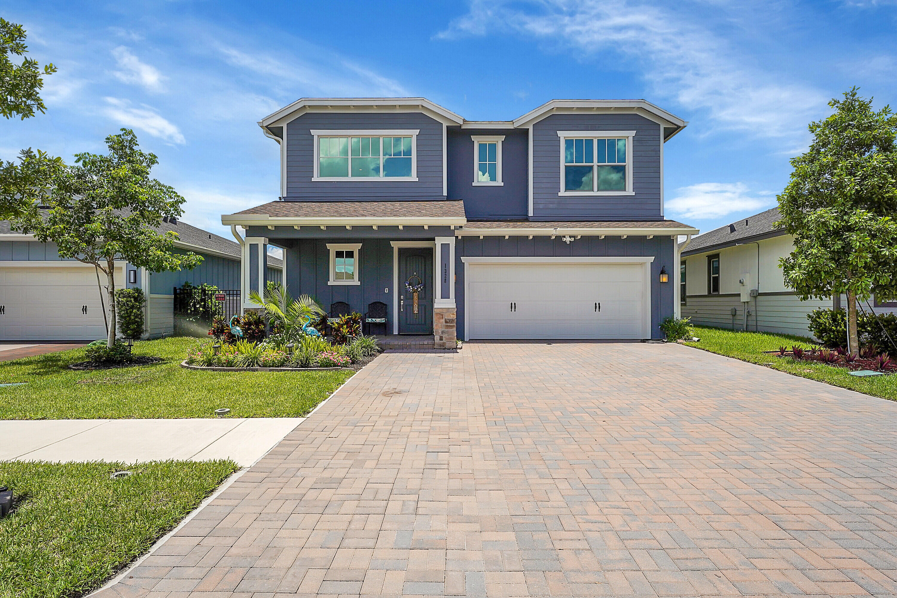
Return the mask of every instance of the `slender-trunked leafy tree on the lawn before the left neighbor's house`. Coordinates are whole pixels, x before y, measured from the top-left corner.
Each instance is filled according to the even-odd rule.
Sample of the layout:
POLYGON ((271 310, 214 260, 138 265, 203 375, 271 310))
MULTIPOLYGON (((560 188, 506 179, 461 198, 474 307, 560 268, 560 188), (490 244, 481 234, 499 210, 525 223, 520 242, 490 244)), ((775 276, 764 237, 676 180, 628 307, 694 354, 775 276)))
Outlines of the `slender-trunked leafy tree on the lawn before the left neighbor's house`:
POLYGON ((75 154, 75 164, 57 170, 41 209, 30 204, 13 229, 56 243, 59 256, 91 264, 107 278, 108 346, 115 344, 115 263, 126 261, 152 272, 192 269, 203 258, 171 252, 175 232, 156 230, 163 217, 183 213, 184 198, 150 178, 155 154, 137 149, 129 129, 106 138, 109 155, 75 154))

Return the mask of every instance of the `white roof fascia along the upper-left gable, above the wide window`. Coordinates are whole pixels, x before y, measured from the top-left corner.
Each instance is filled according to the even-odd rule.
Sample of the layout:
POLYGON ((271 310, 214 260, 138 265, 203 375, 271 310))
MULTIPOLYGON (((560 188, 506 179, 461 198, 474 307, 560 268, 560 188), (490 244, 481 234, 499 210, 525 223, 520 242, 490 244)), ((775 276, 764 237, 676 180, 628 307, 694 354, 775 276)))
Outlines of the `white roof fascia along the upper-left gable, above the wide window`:
POLYGON ((464 123, 464 118, 424 98, 300 98, 258 124, 283 126, 305 112, 423 112, 446 125, 464 123))

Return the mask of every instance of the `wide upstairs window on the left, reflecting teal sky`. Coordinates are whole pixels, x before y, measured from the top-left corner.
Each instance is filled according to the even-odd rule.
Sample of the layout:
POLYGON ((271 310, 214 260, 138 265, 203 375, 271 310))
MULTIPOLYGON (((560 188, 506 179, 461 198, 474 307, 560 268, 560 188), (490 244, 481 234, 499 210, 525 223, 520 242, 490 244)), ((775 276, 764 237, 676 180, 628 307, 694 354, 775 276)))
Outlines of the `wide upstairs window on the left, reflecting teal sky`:
POLYGON ((312 180, 417 180, 417 130, 312 131, 312 180))

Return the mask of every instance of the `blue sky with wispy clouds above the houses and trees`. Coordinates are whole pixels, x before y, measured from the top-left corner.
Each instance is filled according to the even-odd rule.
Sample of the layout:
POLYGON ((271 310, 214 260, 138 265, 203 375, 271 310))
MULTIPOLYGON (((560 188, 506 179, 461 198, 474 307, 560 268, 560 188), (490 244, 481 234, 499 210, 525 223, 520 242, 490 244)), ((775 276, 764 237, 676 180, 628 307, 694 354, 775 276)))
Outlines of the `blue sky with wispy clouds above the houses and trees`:
POLYGON ((184 220, 278 195, 256 123, 301 97, 423 96, 471 120, 553 98, 644 98, 690 121, 666 144, 666 215, 711 230, 775 204, 806 125, 851 85, 897 89, 897 0, 45 2, 4 0, 48 77, 46 115, 0 122, 0 158, 65 160, 134 128, 184 220))

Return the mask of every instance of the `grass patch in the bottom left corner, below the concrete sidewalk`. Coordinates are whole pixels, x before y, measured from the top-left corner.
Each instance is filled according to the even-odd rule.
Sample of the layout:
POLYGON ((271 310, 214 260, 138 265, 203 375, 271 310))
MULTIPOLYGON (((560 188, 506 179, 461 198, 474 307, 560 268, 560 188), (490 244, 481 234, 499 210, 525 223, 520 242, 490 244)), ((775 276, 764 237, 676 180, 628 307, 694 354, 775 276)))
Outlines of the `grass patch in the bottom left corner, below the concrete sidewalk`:
POLYGON ((0 463, 0 598, 83 595, 152 546, 238 466, 231 461, 0 463), (109 474, 134 472, 118 480, 109 474))

